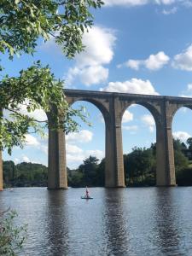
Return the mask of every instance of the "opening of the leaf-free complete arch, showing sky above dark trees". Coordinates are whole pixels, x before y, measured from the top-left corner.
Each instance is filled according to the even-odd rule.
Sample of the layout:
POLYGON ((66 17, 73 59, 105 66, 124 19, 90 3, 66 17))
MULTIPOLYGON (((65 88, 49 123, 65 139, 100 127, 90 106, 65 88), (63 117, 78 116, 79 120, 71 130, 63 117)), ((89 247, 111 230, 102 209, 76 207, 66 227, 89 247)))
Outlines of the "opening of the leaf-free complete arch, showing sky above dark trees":
POLYGON ((155 184, 156 176, 155 144, 152 147, 152 143, 156 143, 156 124, 153 114, 146 108, 146 106, 143 106, 145 104, 137 104, 136 102, 132 104, 125 110, 131 113, 130 121, 129 115, 128 122, 126 122, 124 115, 121 121, 125 183, 128 186, 136 184, 145 185, 147 183, 152 185, 155 184), (134 104, 134 107, 131 108, 132 104, 134 104), (142 136, 143 133, 141 133, 141 131, 143 131, 144 137, 142 136), (144 148, 148 150, 145 151, 144 148), (149 150, 149 148, 151 148, 151 150, 149 150), (149 156, 149 153, 151 154, 151 157, 150 162, 148 161, 148 166, 145 165, 145 167, 143 167, 143 164, 141 164, 141 168, 138 168, 137 163, 139 165, 140 160, 143 160, 143 155, 148 154, 149 156), (137 158, 137 161, 135 161, 135 158, 137 158), (149 173, 150 175, 148 175, 149 173))

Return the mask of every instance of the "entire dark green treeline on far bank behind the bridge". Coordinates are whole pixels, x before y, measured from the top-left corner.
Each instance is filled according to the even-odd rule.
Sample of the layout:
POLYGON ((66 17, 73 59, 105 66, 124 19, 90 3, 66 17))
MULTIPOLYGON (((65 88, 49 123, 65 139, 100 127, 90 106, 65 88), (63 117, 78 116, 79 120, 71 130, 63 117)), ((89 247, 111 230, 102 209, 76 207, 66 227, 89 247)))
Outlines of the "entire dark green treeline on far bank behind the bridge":
MULTIPOLYGON (((189 142, 192 141, 189 140, 189 142)), ((178 186, 192 186, 192 143, 174 140, 174 156, 178 186)), ((130 154, 124 154, 125 184, 128 187, 154 186, 156 168, 156 145, 150 148, 132 148, 130 154)), ((105 159, 99 163, 95 156, 83 161, 77 169, 67 168, 68 186, 104 187, 105 159)), ((3 161, 3 184, 9 187, 46 187, 48 168, 41 164, 3 161)))

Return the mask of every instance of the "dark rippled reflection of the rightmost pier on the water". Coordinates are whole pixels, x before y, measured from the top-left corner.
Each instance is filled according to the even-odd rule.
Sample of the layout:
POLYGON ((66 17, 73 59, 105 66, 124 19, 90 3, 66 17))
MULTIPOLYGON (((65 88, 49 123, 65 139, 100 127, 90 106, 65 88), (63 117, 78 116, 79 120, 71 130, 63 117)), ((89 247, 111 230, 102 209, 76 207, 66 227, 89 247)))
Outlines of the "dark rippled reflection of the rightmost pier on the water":
POLYGON ((175 188, 156 188, 154 208, 154 233, 157 247, 163 255, 185 255, 180 247, 182 227, 178 223, 179 205, 175 188))

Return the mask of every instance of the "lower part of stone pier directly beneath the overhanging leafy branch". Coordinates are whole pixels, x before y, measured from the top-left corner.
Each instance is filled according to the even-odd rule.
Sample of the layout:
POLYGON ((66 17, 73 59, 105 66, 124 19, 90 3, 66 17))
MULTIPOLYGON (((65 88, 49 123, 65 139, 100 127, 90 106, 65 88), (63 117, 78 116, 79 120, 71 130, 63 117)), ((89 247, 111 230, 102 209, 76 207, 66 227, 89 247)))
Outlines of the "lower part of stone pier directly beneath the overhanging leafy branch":
POLYGON ((49 129, 48 189, 67 189, 65 133, 49 129))

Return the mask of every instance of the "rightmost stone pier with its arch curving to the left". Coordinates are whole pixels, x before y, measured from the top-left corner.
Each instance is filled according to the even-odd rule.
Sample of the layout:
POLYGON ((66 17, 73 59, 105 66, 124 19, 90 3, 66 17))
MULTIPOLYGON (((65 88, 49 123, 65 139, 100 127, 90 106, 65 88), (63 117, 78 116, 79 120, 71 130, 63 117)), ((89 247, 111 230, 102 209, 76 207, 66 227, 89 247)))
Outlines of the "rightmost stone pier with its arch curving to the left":
POLYGON ((175 166, 172 143, 172 106, 164 96, 135 96, 122 104, 122 114, 131 104, 139 104, 147 108, 154 117, 156 124, 156 185, 174 186, 175 166))

